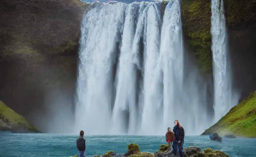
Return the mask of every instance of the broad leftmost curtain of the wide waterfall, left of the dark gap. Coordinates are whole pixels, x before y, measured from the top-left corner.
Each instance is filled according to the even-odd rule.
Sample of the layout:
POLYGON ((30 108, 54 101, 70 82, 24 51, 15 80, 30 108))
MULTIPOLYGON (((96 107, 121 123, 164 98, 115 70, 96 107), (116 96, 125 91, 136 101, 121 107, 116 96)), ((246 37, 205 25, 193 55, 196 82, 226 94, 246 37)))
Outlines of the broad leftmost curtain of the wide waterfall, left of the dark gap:
POLYGON ((125 9, 125 3, 96 5, 82 21, 75 126, 82 126, 87 134, 108 133, 110 129, 115 49, 125 9))

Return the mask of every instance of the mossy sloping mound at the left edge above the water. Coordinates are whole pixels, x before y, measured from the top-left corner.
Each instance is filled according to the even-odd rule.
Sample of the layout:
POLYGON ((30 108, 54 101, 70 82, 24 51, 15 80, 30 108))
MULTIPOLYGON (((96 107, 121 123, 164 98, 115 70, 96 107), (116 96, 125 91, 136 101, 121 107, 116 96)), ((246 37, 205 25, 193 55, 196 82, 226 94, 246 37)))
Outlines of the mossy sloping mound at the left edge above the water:
POLYGON ((39 132, 25 117, 22 117, 0 101, 0 130, 11 132, 39 132))

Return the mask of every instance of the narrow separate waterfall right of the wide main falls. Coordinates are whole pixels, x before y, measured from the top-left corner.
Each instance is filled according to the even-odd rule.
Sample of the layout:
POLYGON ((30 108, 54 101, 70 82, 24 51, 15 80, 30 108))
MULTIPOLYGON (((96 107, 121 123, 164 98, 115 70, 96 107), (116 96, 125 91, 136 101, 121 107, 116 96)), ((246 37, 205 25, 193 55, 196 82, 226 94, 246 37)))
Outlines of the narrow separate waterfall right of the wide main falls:
POLYGON ((211 0, 211 34, 214 76, 214 123, 234 105, 237 97, 231 98, 231 75, 227 49, 226 19, 222 0, 211 0))

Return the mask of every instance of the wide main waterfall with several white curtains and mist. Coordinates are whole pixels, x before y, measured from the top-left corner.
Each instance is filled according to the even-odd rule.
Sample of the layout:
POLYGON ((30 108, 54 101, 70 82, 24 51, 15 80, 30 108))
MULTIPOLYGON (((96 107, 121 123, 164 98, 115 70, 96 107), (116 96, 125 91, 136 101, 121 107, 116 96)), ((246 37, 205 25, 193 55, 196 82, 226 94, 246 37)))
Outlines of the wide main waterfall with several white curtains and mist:
POLYGON ((163 20, 159 1, 92 5, 81 23, 74 131, 162 135, 178 119, 186 135, 201 134, 205 91, 184 63, 180 0, 163 20))

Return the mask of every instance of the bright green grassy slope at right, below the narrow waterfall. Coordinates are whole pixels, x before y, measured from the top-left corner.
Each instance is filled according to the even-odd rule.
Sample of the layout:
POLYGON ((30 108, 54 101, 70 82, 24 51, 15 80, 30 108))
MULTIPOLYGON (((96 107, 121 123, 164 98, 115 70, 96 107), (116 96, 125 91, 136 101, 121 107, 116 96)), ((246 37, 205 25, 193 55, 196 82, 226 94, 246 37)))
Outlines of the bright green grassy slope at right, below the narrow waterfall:
POLYGON ((216 124, 206 129, 202 135, 218 132, 220 136, 256 137, 256 91, 250 93, 241 103, 232 107, 216 124))

